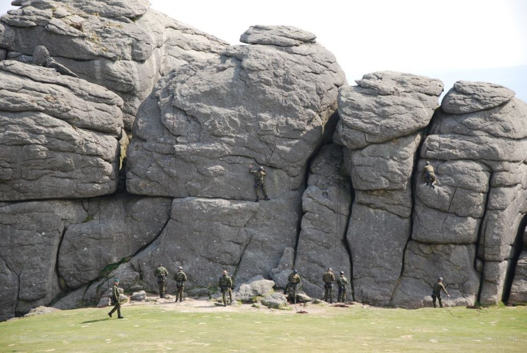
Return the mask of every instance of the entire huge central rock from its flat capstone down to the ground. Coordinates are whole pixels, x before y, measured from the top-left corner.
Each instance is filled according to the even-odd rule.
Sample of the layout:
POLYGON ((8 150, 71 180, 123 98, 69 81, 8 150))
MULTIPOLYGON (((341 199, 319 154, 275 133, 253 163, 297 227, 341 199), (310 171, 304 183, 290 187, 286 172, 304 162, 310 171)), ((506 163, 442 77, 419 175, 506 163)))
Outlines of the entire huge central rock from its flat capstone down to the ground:
POLYGON ((183 198, 141 268, 168 256, 194 285, 216 283, 222 269, 238 283, 267 276, 295 247, 306 163, 345 81, 309 32, 257 26, 241 41, 250 45, 162 77, 128 148, 130 192, 183 198), (265 166, 271 201, 252 202, 249 164, 265 166))

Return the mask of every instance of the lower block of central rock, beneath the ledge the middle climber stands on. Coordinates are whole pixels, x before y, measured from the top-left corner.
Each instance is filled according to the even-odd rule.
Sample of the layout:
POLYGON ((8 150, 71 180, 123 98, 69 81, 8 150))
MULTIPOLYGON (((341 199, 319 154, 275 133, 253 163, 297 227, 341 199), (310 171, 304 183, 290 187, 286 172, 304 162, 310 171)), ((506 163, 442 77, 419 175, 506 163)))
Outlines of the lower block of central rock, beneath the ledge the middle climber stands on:
MULTIPOLYGON (((299 198, 292 194, 297 198, 260 203, 174 199, 171 219, 161 235, 120 269, 132 267, 137 272, 126 278, 140 272, 142 281, 155 290, 152 269, 163 263, 169 271, 168 291, 175 290, 173 275, 178 266, 187 273, 188 288, 217 286, 223 270, 235 284, 266 274, 276 267, 284 249, 295 245, 299 198)), ((123 281, 123 275, 115 273, 123 281)), ((134 282, 123 287, 128 283, 134 282)))

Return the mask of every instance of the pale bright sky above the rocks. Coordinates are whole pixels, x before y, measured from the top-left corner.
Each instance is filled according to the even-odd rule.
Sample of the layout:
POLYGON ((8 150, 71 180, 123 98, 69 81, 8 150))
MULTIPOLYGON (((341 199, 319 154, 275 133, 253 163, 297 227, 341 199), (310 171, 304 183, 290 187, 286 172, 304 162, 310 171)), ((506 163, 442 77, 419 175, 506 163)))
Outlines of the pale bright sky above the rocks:
MULTIPOLYGON (((392 70, 499 83, 527 101, 526 0, 170 1, 152 8, 239 44, 255 24, 292 25, 317 35, 350 84, 392 70), (499 80, 499 81, 496 81, 499 80)), ((0 0, 0 13, 10 0, 0 0)))

